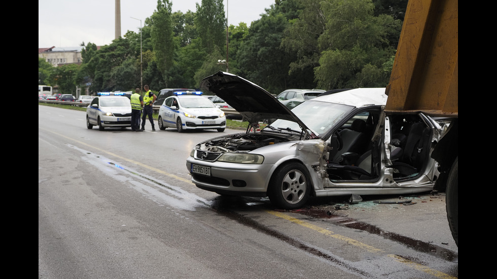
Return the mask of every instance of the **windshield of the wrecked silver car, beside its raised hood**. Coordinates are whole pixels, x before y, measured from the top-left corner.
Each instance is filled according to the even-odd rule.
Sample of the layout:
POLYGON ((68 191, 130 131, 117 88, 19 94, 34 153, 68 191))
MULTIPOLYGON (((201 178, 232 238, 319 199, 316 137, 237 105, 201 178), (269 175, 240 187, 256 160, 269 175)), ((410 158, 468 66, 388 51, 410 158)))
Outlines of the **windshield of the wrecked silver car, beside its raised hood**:
MULTIPOLYGON (((342 104, 309 101, 296 106, 292 109, 292 112, 295 113, 309 129, 316 132, 318 135, 325 135, 331 131, 343 117, 348 115, 352 109, 352 106, 342 104)), ((281 129, 290 128, 291 130, 296 131, 301 130, 297 123, 283 119, 277 119, 271 123, 270 126, 281 129)))

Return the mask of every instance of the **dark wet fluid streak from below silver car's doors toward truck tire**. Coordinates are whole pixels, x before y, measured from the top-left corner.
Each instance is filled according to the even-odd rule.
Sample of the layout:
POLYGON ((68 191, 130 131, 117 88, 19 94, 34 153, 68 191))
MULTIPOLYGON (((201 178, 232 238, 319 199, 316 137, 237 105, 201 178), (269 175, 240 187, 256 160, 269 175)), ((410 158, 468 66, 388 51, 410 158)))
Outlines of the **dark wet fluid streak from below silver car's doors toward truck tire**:
POLYGON ((332 213, 331 211, 321 210, 318 208, 306 208, 292 211, 294 213, 300 213, 315 219, 326 219, 327 221, 333 222, 334 224, 345 226, 352 229, 358 229, 367 231, 369 233, 377 234, 384 237, 387 240, 395 241, 401 243, 411 249, 414 249, 419 252, 429 253, 431 255, 435 255, 439 258, 454 261, 457 260, 458 255, 451 250, 445 249, 443 247, 439 247, 433 245, 431 243, 422 242, 419 240, 415 240, 413 238, 400 235, 393 232, 388 232, 380 229, 377 226, 360 222, 352 218, 348 218, 345 216, 340 216, 332 213))

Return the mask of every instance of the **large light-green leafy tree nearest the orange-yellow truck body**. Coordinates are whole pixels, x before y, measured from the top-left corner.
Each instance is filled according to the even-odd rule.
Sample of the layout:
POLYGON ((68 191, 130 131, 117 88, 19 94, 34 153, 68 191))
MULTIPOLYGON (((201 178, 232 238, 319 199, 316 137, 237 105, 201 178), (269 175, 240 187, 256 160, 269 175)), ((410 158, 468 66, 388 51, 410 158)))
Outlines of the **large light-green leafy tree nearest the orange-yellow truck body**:
POLYGON ((322 1, 321 9, 326 26, 318 38, 319 87, 386 86, 391 69, 385 63, 396 50, 389 38, 399 37, 402 22, 389 15, 375 17, 371 0, 322 1))

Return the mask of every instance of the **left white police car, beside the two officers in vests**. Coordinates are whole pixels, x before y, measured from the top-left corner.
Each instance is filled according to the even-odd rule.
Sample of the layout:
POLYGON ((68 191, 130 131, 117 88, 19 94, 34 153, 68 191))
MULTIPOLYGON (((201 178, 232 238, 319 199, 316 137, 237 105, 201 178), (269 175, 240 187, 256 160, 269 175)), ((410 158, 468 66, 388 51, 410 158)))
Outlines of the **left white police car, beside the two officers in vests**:
POLYGON ((86 107, 86 127, 131 127, 131 103, 123 94, 100 92, 86 107))

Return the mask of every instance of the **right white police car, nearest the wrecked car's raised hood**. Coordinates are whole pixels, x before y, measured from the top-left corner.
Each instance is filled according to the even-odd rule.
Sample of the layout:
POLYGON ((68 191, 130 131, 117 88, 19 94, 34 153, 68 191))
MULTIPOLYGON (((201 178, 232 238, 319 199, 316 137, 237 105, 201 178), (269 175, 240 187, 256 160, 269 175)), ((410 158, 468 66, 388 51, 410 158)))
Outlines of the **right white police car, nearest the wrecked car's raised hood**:
POLYGON ((226 116, 200 91, 177 91, 164 100, 159 109, 159 129, 176 128, 178 132, 195 129, 226 129, 226 116))

